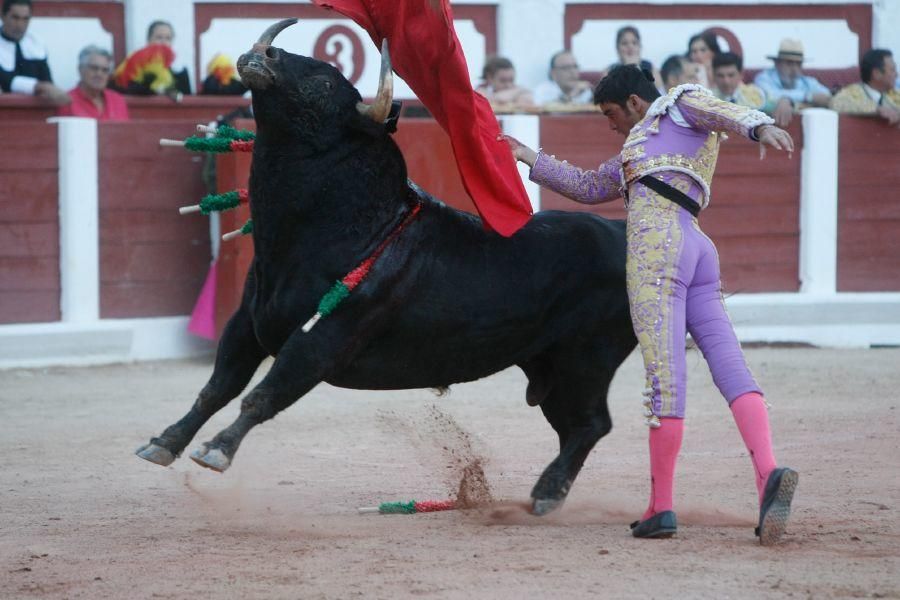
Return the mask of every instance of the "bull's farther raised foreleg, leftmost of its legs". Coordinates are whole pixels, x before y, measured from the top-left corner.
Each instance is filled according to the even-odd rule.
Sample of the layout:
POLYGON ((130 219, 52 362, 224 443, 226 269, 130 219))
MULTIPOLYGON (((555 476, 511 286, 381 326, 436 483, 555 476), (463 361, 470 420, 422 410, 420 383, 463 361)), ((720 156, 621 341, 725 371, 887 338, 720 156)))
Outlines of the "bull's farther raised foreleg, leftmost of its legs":
POLYGON ((241 393, 266 355, 256 340, 250 315, 242 305, 225 326, 212 377, 191 410, 162 435, 138 448, 135 454, 158 465, 171 464, 204 423, 241 393))

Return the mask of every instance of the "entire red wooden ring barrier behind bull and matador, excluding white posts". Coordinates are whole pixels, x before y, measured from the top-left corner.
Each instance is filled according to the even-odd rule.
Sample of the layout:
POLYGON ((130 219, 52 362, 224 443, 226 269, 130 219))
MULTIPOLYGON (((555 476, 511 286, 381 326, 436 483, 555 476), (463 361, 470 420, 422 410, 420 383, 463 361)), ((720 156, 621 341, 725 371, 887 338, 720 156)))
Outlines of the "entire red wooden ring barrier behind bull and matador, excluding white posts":
MULTIPOLYGON (((32 99, 33 100, 33 99, 32 99)), ((159 100, 159 99, 155 99, 159 100)), ((33 110, 38 110, 32 105, 33 110)), ((2 113, 0 108, 0 113, 2 113)), ((595 167, 622 138, 595 114, 540 117, 541 145, 560 158, 595 167)), ((2 119, 0 119, 2 120, 2 119)), ((206 119, 203 119, 206 120, 206 119)), ((205 157, 160 148, 160 137, 183 138, 197 119, 149 119, 99 125, 101 317, 189 314, 209 265, 207 218, 179 216, 208 190, 205 157)), ((238 126, 252 126, 252 121, 238 126)), ((798 290, 798 202, 802 135, 792 128, 792 160, 740 139, 725 143, 713 200, 701 216, 716 241, 729 292, 798 290)), ((883 123, 840 119, 838 291, 900 289, 900 133, 883 123)), ((39 119, 4 123, 0 160, 0 323, 60 318, 58 140, 39 119)), ((430 119, 401 119, 396 134, 410 177, 448 204, 472 210, 449 141, 430 119)), ((218 158, 218 188, 246 187, 250 156, 218 158)), ((591 208, 543 191, 544 209, 593 210, 624 217, 622 203, 591 208)), ((240 227, 246 209, 224 213, 222 231, 240 227)), ((252 237, 222 244, 219 326, 240 298, 252 258, 252 237)))

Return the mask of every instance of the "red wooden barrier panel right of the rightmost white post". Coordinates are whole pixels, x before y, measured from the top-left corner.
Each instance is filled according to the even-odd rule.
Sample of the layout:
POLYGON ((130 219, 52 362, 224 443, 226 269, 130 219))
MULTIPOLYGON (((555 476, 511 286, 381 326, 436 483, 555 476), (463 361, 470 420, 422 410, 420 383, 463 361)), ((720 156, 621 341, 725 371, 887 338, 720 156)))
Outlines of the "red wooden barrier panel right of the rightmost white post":
POLYGON ((900 291, 900 130, 842 115, 838 131, 838 291, 900 291))

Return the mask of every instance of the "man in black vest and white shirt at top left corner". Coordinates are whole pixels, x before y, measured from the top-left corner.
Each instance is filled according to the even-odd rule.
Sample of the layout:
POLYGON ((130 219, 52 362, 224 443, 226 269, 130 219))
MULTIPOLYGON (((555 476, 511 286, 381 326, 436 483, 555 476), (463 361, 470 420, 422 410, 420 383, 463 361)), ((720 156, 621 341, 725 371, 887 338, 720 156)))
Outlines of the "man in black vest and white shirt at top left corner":
POLYGON ((47 98, 56 105, 69 102, 69 96, 53 85, 47 50, 28 33, 31 0, 3 0, 3 26, 0 28, 0 89, 47 98))

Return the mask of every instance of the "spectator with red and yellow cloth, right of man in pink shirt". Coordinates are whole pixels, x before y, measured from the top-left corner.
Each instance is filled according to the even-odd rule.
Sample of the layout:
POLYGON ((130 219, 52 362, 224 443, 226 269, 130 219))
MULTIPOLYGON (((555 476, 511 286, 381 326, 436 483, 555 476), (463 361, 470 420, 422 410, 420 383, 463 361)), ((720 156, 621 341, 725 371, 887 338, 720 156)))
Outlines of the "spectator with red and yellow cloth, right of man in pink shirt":
POLYGON ((173 69, 175 30, 166 21, 154 21, 147 29, 147 45, 132 52, 116 68, 113 87, 123 94, 152 96, 166 94, 180 101, 191 93, 186 68, 173 69))

